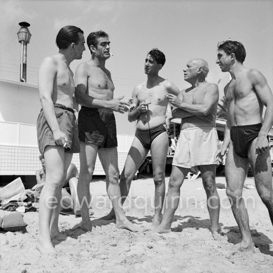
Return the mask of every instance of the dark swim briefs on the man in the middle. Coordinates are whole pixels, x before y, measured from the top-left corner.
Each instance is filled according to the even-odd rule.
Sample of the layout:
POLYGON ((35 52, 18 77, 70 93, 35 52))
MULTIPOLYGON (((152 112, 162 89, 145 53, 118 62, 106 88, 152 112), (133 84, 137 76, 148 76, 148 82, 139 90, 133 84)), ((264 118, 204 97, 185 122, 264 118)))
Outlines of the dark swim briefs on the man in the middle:
MULTIPOLYGON (((140 141, 144 148, 150 149, 152 141, 160 134, 167 132, 164 125, 159 125, 149 130, 141 130, 136 128, 136 138, 140 141)), ((167 136, 166 136, 167 137, 167 136)))

